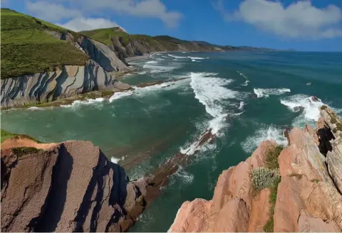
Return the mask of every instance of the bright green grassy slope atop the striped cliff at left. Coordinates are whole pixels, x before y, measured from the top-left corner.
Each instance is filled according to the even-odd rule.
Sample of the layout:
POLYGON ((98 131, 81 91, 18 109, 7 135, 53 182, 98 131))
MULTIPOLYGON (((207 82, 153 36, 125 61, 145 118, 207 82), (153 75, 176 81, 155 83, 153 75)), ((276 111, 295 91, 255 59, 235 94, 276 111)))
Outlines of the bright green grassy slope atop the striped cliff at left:
POLYGON ((1 79, 51 71, 61 65, 84 65, 88 60, 81 50, 44 30, 67 31, 23 13, 1 9, 1 79))

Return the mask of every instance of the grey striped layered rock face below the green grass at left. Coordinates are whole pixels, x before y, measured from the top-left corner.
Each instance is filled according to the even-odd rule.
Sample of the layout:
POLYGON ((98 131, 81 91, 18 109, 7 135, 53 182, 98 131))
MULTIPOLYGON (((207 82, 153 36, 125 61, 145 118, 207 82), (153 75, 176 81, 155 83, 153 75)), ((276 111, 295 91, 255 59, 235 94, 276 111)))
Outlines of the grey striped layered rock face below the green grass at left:
POLYGON ((24 104, 39 104, 75 94, 95 90, 125 90, 116 79, 118 72, 127 72, 129 67, 116 57, 113 50, 96 40, 71 33, 46 31, 55 38, 67 40, 90 56, 85 65, 63 65, 61 70, 40 72, 33 75, 11 77, 1 80, 1 107, 16 107, 24 104))

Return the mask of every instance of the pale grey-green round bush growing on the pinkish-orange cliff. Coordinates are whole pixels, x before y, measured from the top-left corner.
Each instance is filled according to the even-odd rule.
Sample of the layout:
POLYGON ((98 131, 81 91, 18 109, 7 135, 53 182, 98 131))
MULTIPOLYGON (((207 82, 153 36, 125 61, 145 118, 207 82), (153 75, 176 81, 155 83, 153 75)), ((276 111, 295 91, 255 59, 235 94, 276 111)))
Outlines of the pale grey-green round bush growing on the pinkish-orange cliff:
POLYGON ((252 183, 255 190, 269 188, 280 180, 279 169, 256 168, 252 170, 252 183))

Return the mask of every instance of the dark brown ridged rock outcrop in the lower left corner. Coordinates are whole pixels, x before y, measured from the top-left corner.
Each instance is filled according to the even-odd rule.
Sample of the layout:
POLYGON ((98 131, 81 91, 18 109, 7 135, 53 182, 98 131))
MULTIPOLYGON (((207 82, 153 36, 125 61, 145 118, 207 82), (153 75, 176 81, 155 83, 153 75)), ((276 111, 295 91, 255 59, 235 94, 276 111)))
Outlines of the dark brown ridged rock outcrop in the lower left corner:
POLYGON ((1 150, 2 232, 125 231, 156 191, 87 141, 1 150))

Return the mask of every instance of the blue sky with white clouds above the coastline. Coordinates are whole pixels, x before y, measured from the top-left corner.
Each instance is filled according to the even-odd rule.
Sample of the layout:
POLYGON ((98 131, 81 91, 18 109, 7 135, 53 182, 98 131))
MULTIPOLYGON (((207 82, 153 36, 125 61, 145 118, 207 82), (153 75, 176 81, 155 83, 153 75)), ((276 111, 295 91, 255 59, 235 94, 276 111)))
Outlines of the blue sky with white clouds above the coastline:
POLYGON ((342 51, 342 0, 1 0, 73 31, 120 26, 217 45, 342 51))

